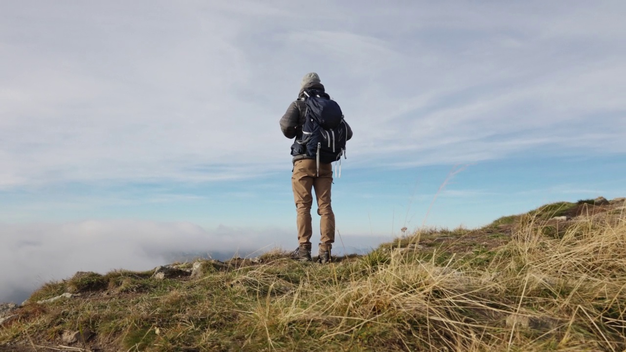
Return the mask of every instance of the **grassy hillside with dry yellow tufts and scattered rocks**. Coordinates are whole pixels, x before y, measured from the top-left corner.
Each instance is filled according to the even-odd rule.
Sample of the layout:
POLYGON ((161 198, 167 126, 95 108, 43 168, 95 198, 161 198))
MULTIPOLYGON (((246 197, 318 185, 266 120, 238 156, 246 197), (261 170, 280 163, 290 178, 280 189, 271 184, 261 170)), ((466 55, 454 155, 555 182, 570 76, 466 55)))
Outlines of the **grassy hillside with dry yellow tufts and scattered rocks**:
POLYGON ((193 278, 193 262, 164 279, 78 273, 13 311, 0 350, 623 351, 625 205, 419 230, 326 266, 272 251, 202 261, 193 278))

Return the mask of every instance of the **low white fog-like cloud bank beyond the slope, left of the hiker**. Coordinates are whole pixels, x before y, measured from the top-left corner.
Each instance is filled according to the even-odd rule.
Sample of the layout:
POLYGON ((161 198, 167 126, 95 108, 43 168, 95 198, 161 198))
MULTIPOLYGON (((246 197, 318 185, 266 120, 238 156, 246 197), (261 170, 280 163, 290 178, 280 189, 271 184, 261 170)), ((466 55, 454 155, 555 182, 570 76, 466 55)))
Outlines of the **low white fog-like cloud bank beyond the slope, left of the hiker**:
MULTIPOLYGON (((0 302, 22 298, 43 282, 76 271, 150 270, 168 264, 173 253, 245 255, 295 239, 280 229, 205 230, 190 223, 139 220, 66 224, 0 223, 0 302), (9 269, 10 268, 10 269, 9 269)), ((220 258, 223 259, 223 258, 220 258)))

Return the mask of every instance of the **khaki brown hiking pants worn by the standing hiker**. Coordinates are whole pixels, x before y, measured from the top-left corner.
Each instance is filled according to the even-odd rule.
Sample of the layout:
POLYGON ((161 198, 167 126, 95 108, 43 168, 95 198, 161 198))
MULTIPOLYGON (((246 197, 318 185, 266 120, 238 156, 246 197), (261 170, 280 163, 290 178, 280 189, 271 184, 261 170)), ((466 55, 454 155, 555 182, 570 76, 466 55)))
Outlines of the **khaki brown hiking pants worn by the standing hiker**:
POLYGON ((332 165, 320 163, 318 176, 316 160, 298 160, 294 163, 291 185, 294 189, 300 246, 307 249, 311 247, 310 238, 313 230, 310 211, 313 204, 311 193, 311 188, 313 188, 317 197, 317 214, 321 216, 319 247, 322 251, 331 249, 332 243, 335 242, 335 214, 332 213, 331 208, 332 165))

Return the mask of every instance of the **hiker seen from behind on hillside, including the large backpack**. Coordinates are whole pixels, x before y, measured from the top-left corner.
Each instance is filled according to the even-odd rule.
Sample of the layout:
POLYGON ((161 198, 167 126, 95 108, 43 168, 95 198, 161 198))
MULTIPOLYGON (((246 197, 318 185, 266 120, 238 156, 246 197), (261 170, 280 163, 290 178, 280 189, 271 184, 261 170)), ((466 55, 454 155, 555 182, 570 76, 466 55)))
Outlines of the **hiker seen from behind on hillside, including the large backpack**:
MULTIPOLYGON (((318 262, 331 261, 335 242, 335 215, 331 207, 331 162, 345 157, 346 141, 352 130, 345 122, 339 105, 324 90, 317 73, 302 78, 298 99, 289 105, 280 119, 280 129, 287 138, 295 138, 291 147, 294 169, 291 177, 297 212, 299 246, 294 259, 311 261, 312 189, 317 198, 317 214, 321 216, 318 262)), ((341 165, 339 166, 341 172, 341 165)))

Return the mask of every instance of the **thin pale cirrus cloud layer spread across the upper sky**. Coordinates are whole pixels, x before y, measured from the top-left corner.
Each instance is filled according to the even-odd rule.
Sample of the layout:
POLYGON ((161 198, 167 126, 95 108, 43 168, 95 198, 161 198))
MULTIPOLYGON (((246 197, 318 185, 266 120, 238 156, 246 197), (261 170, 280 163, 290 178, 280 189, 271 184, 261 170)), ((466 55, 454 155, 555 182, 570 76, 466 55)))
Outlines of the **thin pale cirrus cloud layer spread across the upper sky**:
POLYGON ((329 4, 307 14, 254 1, 121 12, 115 2, 34 3, 4 5, 2 187, 240 178, 250 164, 272 172, 288 147, 277 119, 307 70, 358 132, 354 167, 599 138, 623 152, 619 3, 329 4), (297 25, 305 16, 311 28, 297 25))

